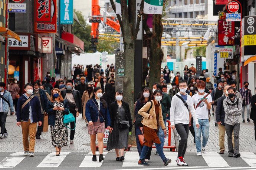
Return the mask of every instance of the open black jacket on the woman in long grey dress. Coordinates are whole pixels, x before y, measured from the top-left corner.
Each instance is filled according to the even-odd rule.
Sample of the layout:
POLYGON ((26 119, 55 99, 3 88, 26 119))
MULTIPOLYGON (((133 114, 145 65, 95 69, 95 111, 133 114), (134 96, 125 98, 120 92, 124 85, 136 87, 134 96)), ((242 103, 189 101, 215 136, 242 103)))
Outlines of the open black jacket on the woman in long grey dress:
MULTIPOLYGON (((122 101, 123 108, 125 110, 125 115, 127 116, 127 119, 129 121, 129 132, 132 131, 132 118, 131 118, 131 112, 129 108, 129 104, 127 102, 122 101)), ((115 118, 116 118, 116 112, 117 112, 118 104, 117 102, 112 102, 109 106, 109 114, 111 119, 111 127, 114 127, 115 118)))

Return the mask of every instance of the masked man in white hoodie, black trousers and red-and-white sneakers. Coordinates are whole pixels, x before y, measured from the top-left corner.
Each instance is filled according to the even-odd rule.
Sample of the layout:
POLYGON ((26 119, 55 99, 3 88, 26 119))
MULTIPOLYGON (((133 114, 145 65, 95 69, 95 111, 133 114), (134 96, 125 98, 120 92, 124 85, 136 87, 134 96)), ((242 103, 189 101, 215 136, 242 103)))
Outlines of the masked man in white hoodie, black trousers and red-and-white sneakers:
POLYGON ((194 124, 197 128, 199 128, 199 125, 192 98, 186 93, 187 81, 181 80, 179 82, 179 88, 180 92, 174 95, 171 101, 171 128, 176 128, 181 138, 180 144, 178 146, 178 157, 176 159, 177 165, 188 166, 188 164, 184 161, 184 155, 187 149, 187 139, 189 132, 189 112, 191 112, 191 115, 194 118, 194 124))

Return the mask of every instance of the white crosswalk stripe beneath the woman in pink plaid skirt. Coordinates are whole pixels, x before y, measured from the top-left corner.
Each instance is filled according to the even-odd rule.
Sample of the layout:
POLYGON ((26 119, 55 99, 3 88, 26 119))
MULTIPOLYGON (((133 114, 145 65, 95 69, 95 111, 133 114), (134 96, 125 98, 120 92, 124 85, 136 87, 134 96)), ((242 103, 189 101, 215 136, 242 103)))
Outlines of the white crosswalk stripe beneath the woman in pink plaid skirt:
MULTIPOLYGON (((105 155, 107 154, 108 152, 103 152, 103 157, 105 159, 105 155)), ((102 163, 104 162, 101 161, 99 162, 99 152, 96 152, 96 155, 97 155, 97 161, 96 162, 92 162, 92 152, 89 152, 85 158, 83 159, 83 162, 80 164, 79 167, 101 167, 102 166, 102 163)))

